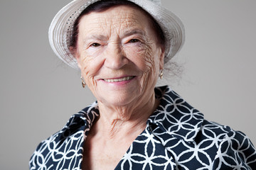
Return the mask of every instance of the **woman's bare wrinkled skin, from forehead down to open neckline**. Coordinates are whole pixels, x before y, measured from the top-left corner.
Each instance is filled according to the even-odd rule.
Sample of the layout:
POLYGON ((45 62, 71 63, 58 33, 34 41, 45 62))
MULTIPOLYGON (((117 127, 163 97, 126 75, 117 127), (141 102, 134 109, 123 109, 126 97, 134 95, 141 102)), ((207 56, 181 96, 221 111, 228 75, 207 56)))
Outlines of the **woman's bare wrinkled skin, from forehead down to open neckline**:
POLYGON ((154 86, 164 66, 164 47, 159 45, 145 13, 117 6, 82 16, 75 57, 100 109, 100 118, 85 142, 90 146, 85 154, 91 157, 86 160, 91 166, 87 169, 100 169, 99 164, 103 169, 114 169, 159 104, 154 86), (123 77, 132 79, 106 81, 123 77), (95 143, 102 147, 93 147, 95 143), (117 145, 118 151, 113 152, 117 145), (107 159, 102 156, 95 160, 97 152, 107 159))

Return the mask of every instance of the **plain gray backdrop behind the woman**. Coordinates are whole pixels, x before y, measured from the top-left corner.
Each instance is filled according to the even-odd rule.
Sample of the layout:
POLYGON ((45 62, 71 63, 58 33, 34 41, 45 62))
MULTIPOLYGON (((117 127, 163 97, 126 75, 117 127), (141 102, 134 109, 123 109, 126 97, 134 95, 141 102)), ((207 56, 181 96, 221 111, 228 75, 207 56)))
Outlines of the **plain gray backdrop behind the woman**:
MULTIPOLYGON (((0 1, 0 169, 28 169, 38 143, 95 98, 79 72, 48 45, 48 26, 68 0, 0 1)), ((206 119, 245 132, 256 145, 256 1, 163 1, 186 27, 173 89, 206 119)))

